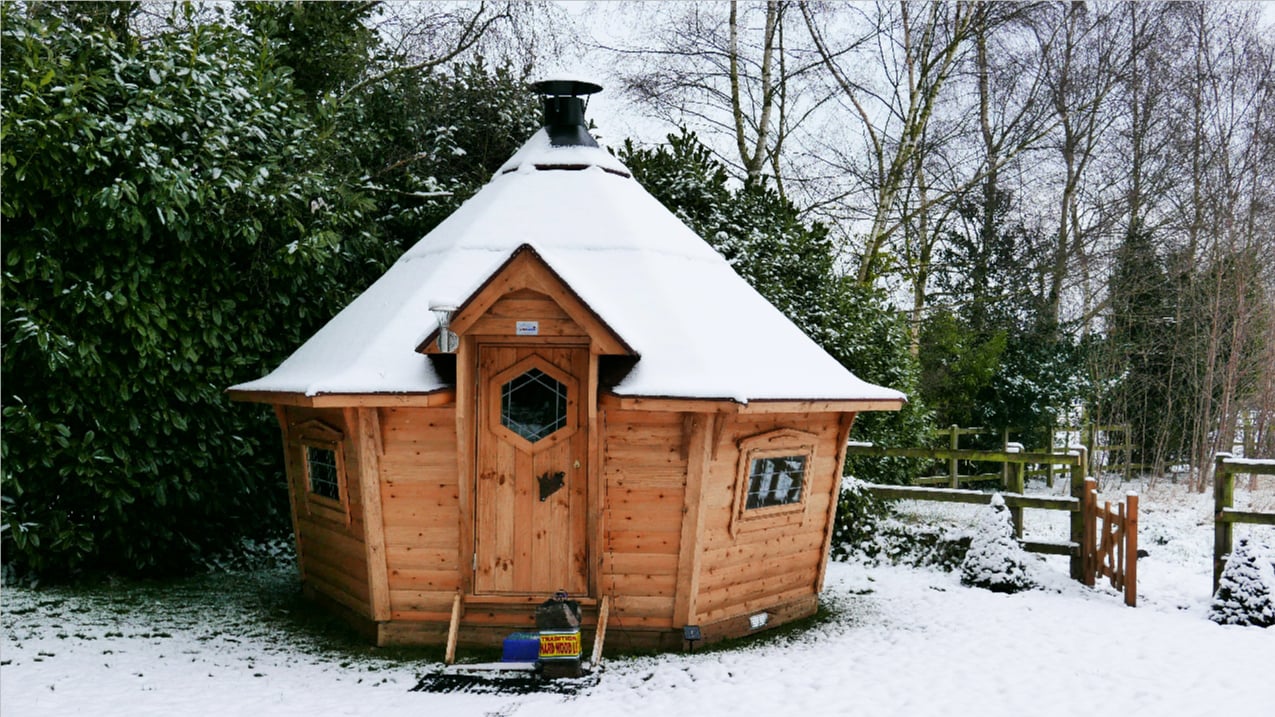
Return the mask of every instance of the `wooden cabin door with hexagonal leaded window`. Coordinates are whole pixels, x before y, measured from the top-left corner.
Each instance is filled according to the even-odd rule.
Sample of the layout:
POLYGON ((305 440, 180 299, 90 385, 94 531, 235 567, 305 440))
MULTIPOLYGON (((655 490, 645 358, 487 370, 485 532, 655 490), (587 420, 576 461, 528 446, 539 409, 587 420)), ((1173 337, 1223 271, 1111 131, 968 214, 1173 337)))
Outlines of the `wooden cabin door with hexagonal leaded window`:
POLYGON ((580 346, 479 346, 476 595, 585 595, 588 370, 580 346))

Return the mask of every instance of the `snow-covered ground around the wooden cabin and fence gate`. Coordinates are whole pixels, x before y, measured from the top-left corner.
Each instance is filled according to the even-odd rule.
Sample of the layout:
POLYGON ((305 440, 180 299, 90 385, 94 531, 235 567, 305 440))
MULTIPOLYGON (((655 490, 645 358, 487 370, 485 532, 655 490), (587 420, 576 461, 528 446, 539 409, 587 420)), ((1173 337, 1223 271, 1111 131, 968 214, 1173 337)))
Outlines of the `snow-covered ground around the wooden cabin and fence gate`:
MULTIPOLYGON (((1275 629, 1206 619, 1209 496, 1140 492, 1150 555, 1136 609, 1067 580, 1060 561, 1038 565, 1046 588, 1012 596, 932 569, 834 563, 830 617, 815 626, 728 651, 611 660, 575 695, 409 691, 439 665, 342 646, 298 620, 286 570, 93 591, 6 586, 0 714, 1275 713, 1275 629)), ((1239 492, 1255 506, 1275 501, 1239 492)), ((964 519, 950 506, 912 509, 964 519)), ((1037 512, 1026 526, 1058 529, 1037 512)))

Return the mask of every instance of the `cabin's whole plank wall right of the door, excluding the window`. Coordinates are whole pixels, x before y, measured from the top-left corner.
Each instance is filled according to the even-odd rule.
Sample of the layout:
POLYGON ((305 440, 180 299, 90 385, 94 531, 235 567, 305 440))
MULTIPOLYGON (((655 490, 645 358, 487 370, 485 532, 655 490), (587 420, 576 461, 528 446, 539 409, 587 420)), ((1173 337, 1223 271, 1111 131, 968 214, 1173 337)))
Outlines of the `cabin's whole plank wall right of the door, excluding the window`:
POLYGON ((719 639, 748 632, 746 617, 754 612, 769 611, 771 624, 813 612, 835 509, 833 485, 841 475, 840 434, 840 413, 718 415, 709 421, 691 413, 608 410, 602 589, 615 601, 612 629, 680 634, 683 624, 718 624, 705 637, 719 639), (784 429, 812 434, 815 444, 801 506, 732 528, 747 487, 740 477, 740 443, 784 429), (695 440, 696 430, 709 431, 708 440, 695 440), (703 458, 692 455, 696 450, 709 455, 700 478, 701 505, 692 514, 687 506, 696 501, 690 500, 695 496, 687 477, 703 458), (695 519, 703 526, 687 526, 695 519), (692 540, 700 543, 683 552, 682 542, 692 540), (694 596, 680 595, 686 589, 694 596))

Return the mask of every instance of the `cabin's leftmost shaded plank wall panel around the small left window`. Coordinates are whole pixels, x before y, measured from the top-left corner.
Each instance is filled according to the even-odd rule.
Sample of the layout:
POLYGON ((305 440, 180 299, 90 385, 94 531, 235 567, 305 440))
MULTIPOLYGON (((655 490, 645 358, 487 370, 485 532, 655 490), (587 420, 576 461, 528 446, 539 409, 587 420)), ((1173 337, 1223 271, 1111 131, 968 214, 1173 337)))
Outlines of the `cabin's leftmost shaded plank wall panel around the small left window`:
POLYGON ((340 408, 289 406, 286 416, 289 426, 286 449, 288 489, 295 498, 301 574, 311 589, 349 607, 358 615, 367 615, 370 603, 367 552, 363 545, 363 504, 357 482, 358 447, 356 445, 354 427, 346 425, 340 408), (348 524, 309 509, 305 457, 295 427, 314 420, 323 421, 344 434, 342 453, 346 459, 348 524))

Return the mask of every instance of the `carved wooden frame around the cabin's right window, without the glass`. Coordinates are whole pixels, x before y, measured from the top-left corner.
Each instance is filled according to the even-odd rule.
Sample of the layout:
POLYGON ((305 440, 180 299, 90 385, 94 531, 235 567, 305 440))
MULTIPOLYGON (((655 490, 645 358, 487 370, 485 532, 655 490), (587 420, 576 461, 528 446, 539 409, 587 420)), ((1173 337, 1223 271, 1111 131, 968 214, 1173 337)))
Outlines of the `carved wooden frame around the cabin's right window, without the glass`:
POLYGON ((742 529, 765 529, 774 526, 802 523, 810 503, 810 480, 815 467, 819 436, 794 429, 776 429, 747 436, 738 441, 740 461, 734 480, 734 514, 731 521, 732 537, 742 529), (748 508, 748 486, 752 463, 765 458, 801 457, 806 459, 802 471, 801 496, 782 505, 748 508))

